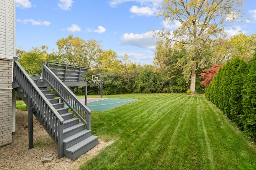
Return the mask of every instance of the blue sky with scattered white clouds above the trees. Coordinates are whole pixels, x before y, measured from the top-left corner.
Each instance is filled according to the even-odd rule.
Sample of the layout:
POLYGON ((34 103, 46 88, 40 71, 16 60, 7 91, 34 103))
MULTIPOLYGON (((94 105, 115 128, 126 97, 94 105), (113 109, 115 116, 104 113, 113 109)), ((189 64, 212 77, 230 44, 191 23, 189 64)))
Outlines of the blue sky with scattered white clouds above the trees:
MULTIPOLYGON (((161 0, 16 0, 16 47, 26 51, 47 45, 69 34, 102 41, 118 58, 128 54, 133 62, 152 64, 155 41, 150 30, 166 26, 156 18, 161 0)), ((256 1, 246 0, 244 25, 226 28, 228 36, 256 33, 256 1)), ((235 23, 236 24, 236 23, 235 23)), ((175 25, 174 25, 175 26, 175 25)), ((171 29, 171 28, 170 28, 171 29)))

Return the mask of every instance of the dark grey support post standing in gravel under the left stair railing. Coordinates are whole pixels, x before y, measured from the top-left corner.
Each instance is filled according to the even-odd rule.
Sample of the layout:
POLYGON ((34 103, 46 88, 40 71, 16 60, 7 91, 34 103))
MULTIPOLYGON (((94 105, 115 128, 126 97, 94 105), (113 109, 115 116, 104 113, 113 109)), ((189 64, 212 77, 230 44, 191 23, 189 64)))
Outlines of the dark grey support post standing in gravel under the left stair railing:
POLYGON ((28 98, 28 149, 34 148, 32 98, 28 98))

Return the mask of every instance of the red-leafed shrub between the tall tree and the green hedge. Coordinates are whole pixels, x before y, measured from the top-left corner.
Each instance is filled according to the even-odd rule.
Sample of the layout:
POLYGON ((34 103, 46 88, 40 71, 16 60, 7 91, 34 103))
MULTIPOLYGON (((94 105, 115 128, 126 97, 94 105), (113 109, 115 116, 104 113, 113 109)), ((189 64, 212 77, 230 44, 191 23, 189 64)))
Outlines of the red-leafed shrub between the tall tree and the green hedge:
POLYGON ((212 82, 213 76, 217 74, 219 67, 223 65, 213 65, 211 68, 204 69, 202 73, 200 73, 201 76, 199 78, 204 79, 200 84, 202 84, 204 87, 208 88, 209 84, 212 82))

